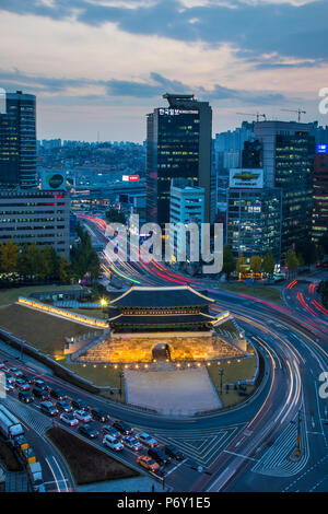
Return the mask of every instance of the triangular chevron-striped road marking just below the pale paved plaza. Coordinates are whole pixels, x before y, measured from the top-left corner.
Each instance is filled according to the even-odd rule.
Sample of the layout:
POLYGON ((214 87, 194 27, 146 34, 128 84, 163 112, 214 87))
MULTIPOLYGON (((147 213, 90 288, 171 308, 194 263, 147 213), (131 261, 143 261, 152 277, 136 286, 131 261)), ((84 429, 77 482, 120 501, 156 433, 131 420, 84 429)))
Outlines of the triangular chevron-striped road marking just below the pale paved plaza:
MULTIPOLYGON (((242 423, 224 428, 209 428, 203 429, 201 433, 197 429, 154 429, 152 435, 162 444, 173 444, 198 466, 209 468, 244 425, 242 423)), ((137 427, 137 430, 147 431, 147 428, 137 427)))

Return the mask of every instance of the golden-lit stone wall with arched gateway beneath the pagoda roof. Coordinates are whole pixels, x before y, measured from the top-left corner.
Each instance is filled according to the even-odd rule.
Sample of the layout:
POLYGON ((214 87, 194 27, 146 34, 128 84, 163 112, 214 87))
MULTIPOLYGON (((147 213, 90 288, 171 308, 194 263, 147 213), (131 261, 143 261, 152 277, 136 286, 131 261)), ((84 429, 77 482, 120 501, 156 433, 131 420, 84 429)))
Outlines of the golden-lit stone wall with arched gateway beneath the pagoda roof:
POLYGON ((202 361, 224 358, 244 357, 244 352, 219 336, 209 337, 167 337, 156 339, 122 335, 95 344, 85 353, 80 354, 79 361, 94 362, 150 362, 152 349, 159 344, 168 344, 173 361, 202 361))

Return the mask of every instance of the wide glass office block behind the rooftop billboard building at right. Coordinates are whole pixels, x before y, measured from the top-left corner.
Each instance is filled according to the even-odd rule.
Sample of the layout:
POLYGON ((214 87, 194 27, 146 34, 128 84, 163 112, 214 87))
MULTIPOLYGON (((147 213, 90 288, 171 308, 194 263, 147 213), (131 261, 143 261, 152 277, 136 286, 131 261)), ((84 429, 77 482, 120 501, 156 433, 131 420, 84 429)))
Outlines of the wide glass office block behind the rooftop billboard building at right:
POLYGON ((311 124, 294 121, 259 121, 254 126, 255 140, 262 147, 259 162, 265 185, 282 189, 282 253, 312 231, 315 138, 311 128, 311 124))

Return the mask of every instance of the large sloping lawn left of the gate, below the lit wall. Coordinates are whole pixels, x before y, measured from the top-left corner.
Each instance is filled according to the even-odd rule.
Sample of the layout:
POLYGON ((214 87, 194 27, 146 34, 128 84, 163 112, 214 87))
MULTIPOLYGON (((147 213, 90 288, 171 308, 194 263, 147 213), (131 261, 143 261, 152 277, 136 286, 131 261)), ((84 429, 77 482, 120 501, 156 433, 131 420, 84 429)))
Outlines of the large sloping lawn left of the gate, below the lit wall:
POLYGON ((19 304, 0 308, 0 328, 50 355, 62 354, 66 337, 83 336, 83 334, 95 331, 97 336, 102 334, 102 330, 39 313, 19 304))

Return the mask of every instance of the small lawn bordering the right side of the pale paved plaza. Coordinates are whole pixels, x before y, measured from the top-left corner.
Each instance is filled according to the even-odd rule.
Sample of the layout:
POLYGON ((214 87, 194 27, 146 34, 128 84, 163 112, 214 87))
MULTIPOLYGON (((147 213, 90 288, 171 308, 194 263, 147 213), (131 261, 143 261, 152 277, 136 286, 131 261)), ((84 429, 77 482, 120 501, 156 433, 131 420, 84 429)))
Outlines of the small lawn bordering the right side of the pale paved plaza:
MULTIPOLYGON (((220 396, 223 407, 230 407, 232 405, 239 404, 241 401, 247 398, 246 396, 239 396, 238 392, 234 390, 231 387, 226 393, 224 387, 224 384, 226 383, 233 384, 237 381, 246 381, 253 378, 257 365, 257 358, 251 347, 248 347, 247 351, 248 353, 251 353, 251 358, 242 359, 241 362, 233 360, 230 364, 227 364, 227 362, 222 362, 220 366, 218 366, 216 364, 208 366, 210 378, 216 389, 218 395, 220 396), (223 370, 224 372, 222 377, 222 394, 220 392, 221 377, 219 374, 219 370, 223 370)), ((253 393, 253 390, 254 386, 247 386, 247 393, 250 394, 253 393)))

